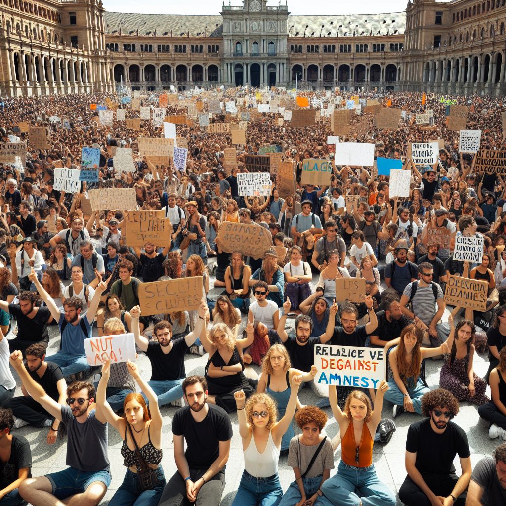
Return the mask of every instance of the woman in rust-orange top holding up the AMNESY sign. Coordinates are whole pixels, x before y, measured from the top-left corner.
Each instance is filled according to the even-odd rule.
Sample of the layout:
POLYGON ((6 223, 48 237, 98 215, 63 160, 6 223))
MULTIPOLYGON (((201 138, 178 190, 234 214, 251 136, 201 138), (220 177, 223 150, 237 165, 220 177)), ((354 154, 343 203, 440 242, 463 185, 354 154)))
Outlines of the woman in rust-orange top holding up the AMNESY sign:
POLYGON ((378 479, 372 462, 374 434, 381 421, 383 397, 388 389, 388 383, 383 380, 376 390, 374 409, 369 398, 355 390, 347 397, 342 411, 335 385, 328 387, 328 400, 339 424, 342 450, 338 472, 317 490, 322 504, 396 504, 394 493, 378 479))

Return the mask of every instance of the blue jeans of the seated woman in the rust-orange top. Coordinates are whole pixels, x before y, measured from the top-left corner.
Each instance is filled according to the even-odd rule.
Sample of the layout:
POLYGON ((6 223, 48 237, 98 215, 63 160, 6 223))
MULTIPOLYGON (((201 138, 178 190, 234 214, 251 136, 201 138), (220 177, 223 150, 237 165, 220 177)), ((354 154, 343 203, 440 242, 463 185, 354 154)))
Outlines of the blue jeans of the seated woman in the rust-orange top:
POLYGON ((348 466, 342 460, 338 472, 321 486, 324 506, 395 506, 397 499, 387 485, 379 481, 374 464, 368 468, 348 466))

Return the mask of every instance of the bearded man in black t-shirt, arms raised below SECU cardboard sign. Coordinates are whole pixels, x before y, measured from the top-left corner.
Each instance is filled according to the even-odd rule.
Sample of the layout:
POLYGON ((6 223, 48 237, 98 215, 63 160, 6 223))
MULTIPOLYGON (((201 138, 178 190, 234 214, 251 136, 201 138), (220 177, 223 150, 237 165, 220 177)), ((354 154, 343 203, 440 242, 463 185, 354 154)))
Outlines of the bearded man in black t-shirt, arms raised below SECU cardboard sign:
MULTIPOLYGON (((179 401, 178 406, 184 406, 183 380, 186 377, 185 354, 195 343, 200 332, 205 332, 204 301, 198 308, 197 324, 192 332, 183 339, 172 340, 172 324, 162 320, 155 324, 153 335, 156 341, 149 341, 140 333, 135 334, 135 344, 143 351, 151 362, 151 379, 148 385, 158 398, 158 406, 165 406, 171 402, 179 401)), ((141 316, 139 306, 130 310, 132 319, 141 316)), ((143 394, 144 395, 144 394, 143 394)), ((146 402, 148 399, 145 397, 146 402)))

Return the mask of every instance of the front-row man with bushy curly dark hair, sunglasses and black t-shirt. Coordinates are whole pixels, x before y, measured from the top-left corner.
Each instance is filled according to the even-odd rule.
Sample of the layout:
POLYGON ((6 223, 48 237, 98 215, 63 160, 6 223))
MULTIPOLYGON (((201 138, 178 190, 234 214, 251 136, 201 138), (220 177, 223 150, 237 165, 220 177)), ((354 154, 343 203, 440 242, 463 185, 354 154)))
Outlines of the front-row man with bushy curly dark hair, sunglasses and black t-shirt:
POLYGON ((453 394, 439 388, 424 395, 421 410, 427 418, 408 429, 406 471, 399 498, 409 506, 466 504, 471 480, 471 452, 466 432, 451 419, 458 413, 453 394), (455 474, 458 453, 462 474, 455 474))

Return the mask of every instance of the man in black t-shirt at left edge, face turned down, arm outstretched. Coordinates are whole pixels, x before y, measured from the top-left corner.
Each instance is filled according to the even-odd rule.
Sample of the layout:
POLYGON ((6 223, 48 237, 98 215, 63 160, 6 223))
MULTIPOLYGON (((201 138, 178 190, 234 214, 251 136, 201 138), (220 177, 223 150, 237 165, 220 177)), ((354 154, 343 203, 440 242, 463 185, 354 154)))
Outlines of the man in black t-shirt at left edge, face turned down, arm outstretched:
POLYGON ((51 318, 49 309, 35 306, 37 294, 28 290, 22 291, 18 299, 19 304, 0 301, 0 309, 12 314, 18 322, 17 337, 9 340, 11 353, 21 350, 24 355, 26 348, 34 343, 47 348, 49 345, 48 320, 51 318))

